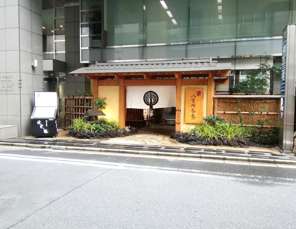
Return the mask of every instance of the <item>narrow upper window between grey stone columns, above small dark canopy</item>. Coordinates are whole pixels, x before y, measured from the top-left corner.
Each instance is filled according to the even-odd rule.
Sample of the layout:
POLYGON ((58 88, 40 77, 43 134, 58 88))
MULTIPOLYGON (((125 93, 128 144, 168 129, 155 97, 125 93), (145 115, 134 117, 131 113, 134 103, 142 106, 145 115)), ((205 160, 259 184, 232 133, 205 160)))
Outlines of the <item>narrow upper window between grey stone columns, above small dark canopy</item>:
POLYGON ((42 10, 43 59, 65 62, 65 8, 42 10))

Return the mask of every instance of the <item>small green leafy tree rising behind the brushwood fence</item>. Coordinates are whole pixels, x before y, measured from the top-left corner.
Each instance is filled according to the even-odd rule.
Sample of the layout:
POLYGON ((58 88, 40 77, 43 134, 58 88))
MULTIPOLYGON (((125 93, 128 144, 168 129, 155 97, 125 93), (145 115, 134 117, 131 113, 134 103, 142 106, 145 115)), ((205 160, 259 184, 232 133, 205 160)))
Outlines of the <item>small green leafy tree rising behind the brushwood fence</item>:
POLYGON ((266 53, 262 57, 257 70, 248 72, 247 80, 234 85, 231 88, 231 94, 244 93, 246 95, 263 95, 270 94, 270 79, 272 75, 281 74, 281 66, 269 64, 268 61, 273 59, 266 53))

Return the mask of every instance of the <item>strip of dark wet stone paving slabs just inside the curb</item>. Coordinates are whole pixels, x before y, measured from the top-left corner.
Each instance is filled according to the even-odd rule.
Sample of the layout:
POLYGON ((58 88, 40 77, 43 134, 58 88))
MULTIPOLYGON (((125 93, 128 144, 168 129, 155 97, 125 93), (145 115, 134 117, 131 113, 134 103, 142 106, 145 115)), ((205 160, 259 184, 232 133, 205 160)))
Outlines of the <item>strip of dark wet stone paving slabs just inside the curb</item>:
MULTIPOLYGON (((274 152, 260 152, 252 150, 243 150, 238 148, 237 150, 224 150, 224 149, 210 149, 210 148, 199 148, 199 147, 174 147, 165 145, 144 145, 144 144, 121 144, 121 143, 103 143, 95 141, 74 141, 74 140, 57 140, 51 138, 11 138, 0 141, 4 143, 26 143, 31 146, 46 145, 46 146, 65 146, 65 147, 83 147, 95 151, 98 149, 109 149, 114 151, 122 150, 145 150, 149 152, 170 152, 170 153, 186 153, 186 154, 207 154, 207 155, 221 155, 221 156, 232 156, 232 157, 254 157, 254 158, 266 158, 266 159, 284 159, 284 160, 296 160, 294 153, 274 153, 274 152)), ((242 159, 242 158, 241 158, 242 159)))

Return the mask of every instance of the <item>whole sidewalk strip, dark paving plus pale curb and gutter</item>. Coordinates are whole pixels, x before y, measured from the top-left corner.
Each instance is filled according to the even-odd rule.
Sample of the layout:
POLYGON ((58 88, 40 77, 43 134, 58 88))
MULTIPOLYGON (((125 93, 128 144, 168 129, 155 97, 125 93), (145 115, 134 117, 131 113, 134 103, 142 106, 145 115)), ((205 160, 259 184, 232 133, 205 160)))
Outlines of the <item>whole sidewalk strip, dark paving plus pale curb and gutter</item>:
POLYGON ((174 157, 193 157, 245 162, 261 162, 296 165, 293 153, 263 152, 234 148, 177 147, 165 145, 118 144, 112 142, 59 140, 53 138, 12 138, 0 141, 0 145, 22 146, 30 148, 51 148, 60 150, 86 150, 94 152, 116 152, 130 154, 160 155, 174 157))

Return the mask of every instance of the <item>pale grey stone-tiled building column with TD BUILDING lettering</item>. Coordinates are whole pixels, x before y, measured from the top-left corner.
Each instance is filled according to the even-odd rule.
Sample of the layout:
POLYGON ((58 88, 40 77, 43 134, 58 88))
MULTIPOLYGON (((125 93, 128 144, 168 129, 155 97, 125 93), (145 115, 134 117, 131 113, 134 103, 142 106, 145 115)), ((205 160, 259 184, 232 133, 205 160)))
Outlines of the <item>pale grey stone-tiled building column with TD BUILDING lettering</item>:
POLYGON ((0 1, 0 17, 0 124, 27 136, 34 91, 43 91, 42 1, 0 1))

